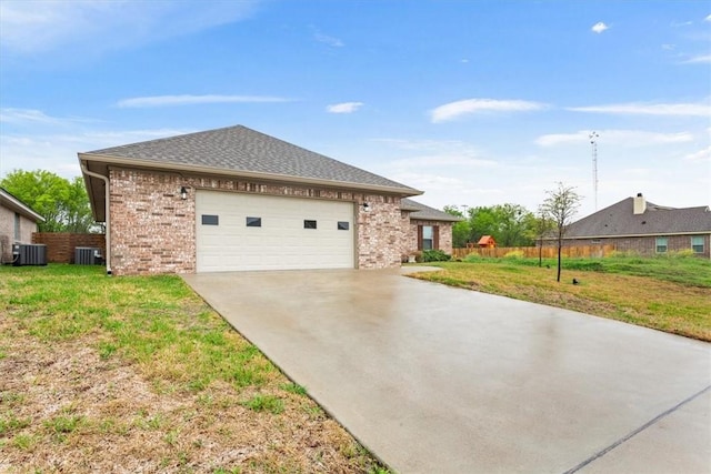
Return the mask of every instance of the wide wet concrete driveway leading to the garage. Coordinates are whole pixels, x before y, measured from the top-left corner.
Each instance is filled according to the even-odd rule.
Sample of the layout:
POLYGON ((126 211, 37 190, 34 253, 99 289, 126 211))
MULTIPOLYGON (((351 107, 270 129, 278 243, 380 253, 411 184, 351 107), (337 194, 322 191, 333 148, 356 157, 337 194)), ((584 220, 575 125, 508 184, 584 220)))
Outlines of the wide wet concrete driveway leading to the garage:
POLYGON ((399 473, 711 472, 711 344, 399 271, 184 279, 399 473))

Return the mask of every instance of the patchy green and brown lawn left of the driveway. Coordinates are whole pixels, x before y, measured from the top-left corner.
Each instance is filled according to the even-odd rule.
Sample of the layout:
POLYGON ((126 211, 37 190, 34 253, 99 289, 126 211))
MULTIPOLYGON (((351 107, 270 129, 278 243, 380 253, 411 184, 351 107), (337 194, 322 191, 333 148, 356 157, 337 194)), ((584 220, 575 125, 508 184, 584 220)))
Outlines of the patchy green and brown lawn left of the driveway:
POLYGON ((0 266, 0 472, 385 472, 178 276, 0 266))

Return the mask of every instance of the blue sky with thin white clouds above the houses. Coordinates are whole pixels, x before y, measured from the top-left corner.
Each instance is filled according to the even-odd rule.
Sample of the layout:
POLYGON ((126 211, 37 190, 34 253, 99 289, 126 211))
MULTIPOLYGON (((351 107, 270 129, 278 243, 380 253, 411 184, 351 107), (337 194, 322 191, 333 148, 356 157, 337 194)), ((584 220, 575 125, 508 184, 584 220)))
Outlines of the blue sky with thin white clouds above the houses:
POLYGON ((711 204, 705 1, 0 1, 0 175, 234 124, 534 211, 711 204))

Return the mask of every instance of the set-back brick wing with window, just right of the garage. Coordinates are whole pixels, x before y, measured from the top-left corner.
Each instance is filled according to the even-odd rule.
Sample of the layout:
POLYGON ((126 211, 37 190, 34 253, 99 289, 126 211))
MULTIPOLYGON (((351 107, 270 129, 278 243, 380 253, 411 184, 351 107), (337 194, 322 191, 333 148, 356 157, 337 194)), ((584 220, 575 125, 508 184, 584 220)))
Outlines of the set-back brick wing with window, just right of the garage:
POLYGON ((461 221, 460 218, 411 199, 402 199, 400 210, 405 229, 403 255, 419 250, 442 250, 452 253, 452 224, 461 221))

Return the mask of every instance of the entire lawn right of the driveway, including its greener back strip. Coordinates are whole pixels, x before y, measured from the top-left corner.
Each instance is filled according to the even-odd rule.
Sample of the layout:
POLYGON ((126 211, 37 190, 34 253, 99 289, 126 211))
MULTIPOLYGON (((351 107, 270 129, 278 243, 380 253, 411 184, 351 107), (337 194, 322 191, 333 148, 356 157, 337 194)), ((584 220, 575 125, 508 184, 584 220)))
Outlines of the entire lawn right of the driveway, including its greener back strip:
POLYGON ((711 341, 711 262, 697 258, 611 258, 555 261, 482 259, 429 263, 421 280, 575 310, 711 341), (572 284, 575 279, 579 284, 572 284))

